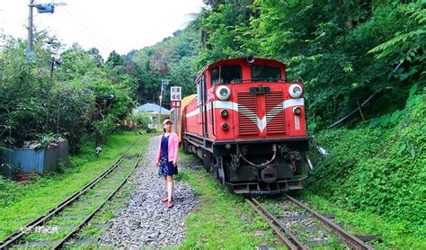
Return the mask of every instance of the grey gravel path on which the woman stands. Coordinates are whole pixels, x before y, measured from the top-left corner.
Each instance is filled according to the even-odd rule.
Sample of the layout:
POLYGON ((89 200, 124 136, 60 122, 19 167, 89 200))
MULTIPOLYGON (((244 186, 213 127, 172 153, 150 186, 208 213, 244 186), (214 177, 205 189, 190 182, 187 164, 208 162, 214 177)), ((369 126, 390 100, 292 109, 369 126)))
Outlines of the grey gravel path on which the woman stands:
POLYGON ((100 238, 102 245, 126 248, 177 246, 185 239, 184 219, 198 201, 188 183, 176 181, 173 208, 168 209, 161 201, 167 192, 164 177, 158 176, 155 165, 158 139, 150 139, 142 165, 129 178, 135 191, 129 196, 128 207, 115 211, 111 228, 100 238))

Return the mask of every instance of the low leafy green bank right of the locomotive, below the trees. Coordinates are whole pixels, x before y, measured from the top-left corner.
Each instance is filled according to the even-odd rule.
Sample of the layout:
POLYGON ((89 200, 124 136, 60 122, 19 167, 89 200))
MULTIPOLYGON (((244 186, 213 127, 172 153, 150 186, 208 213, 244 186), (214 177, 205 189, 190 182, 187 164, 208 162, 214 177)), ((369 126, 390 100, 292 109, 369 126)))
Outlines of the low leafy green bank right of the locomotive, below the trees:
MULTIPOLYGON (((386 129, 319 133, 316 143, 327 148, 330 156, 316 165, 308 186, 351 210, 403 221, 405 233, 424 238, 425 89, 411 98, 416 101, 407 104, 406 112, 398 114, 395 125, 386 124, 386 129)), ((386 121, 392 116, 386 116, 386 121)))

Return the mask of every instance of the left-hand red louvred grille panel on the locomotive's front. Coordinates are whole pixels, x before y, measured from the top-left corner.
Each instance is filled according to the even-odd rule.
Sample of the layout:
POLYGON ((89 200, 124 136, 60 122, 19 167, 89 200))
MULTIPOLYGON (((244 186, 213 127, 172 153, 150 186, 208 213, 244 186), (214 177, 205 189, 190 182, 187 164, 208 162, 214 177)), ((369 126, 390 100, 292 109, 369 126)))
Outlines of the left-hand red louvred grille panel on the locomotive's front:
POLYGON ((257 99, 255 94, 237 92, 238 133, 240 135, 257 135, 257 99))

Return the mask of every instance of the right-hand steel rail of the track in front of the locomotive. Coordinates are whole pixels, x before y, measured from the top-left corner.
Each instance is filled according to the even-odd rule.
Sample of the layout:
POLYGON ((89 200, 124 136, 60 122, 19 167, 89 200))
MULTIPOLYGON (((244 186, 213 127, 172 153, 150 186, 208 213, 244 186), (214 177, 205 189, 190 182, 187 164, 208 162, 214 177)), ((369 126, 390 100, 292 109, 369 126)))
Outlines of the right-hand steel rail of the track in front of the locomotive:
POLYGON ((339 227, 339 225, 335 224, 332 220, 325 218, 321 214, 315 212, 314 210, 311 210, 309 207, 307 207, 305 204, 301 203, 300 201, 297 201, 296 199, 292 198, 288 194, 286 194, 289 201, 292 201, 293 203, 297 204, 297 206, 308 210, 310 213, 312 213, 317 219, 320 219, 324 225, 328 226, 329 228, 332 228, 333 231, 335 231, 339 236, 343 237, 348 244, 351 245, 351 247, 355 249, 374 249, 374 247, 369 246, 368 244, 364 243, 362 240, 360 240, 358 237, 352 236, 349 232, 345 231, 343 228, 339 227))

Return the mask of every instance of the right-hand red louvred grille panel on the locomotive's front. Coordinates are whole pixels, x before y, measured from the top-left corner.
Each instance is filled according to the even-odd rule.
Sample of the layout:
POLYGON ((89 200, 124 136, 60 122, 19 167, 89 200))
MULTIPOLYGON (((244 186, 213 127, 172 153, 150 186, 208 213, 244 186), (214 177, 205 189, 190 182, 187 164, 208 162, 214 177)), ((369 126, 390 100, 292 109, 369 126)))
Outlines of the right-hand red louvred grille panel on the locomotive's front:
POLYGON ((265 94, 266 131, 268 134, 285 132, 285 116, 282 101, 282 91, 265 94))

